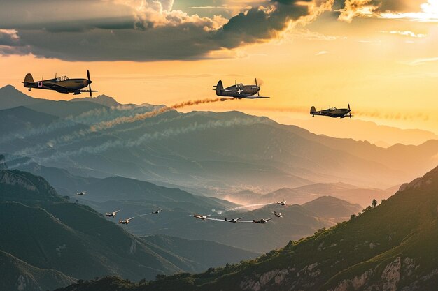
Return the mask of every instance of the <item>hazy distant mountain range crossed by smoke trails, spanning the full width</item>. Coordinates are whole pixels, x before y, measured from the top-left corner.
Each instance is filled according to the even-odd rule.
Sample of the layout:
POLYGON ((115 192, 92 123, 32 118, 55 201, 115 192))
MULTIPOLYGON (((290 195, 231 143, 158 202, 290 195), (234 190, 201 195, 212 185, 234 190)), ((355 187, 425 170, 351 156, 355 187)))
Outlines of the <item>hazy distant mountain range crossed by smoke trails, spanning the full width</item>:
MULTIPOLYGON (((4 96, 22 93, 3 87, 0 98, 4 96)), ((413 179, 437 161, 438 140, 383 149, 241 112, 169 110, 141 119, 139 115, 157 107, 101 103, 39 100, 27 105, 59 120, 8 134, 0 139, 0 151, 73 174, 129 177, 211 196, 333 182, 385 189, 413 179), (102 123, 99 130, 92 126, 102 123)), ((0 111, 0 118, 4 114, 0 111)), ((9 120, 25 119, 14 114, 9 120)))

